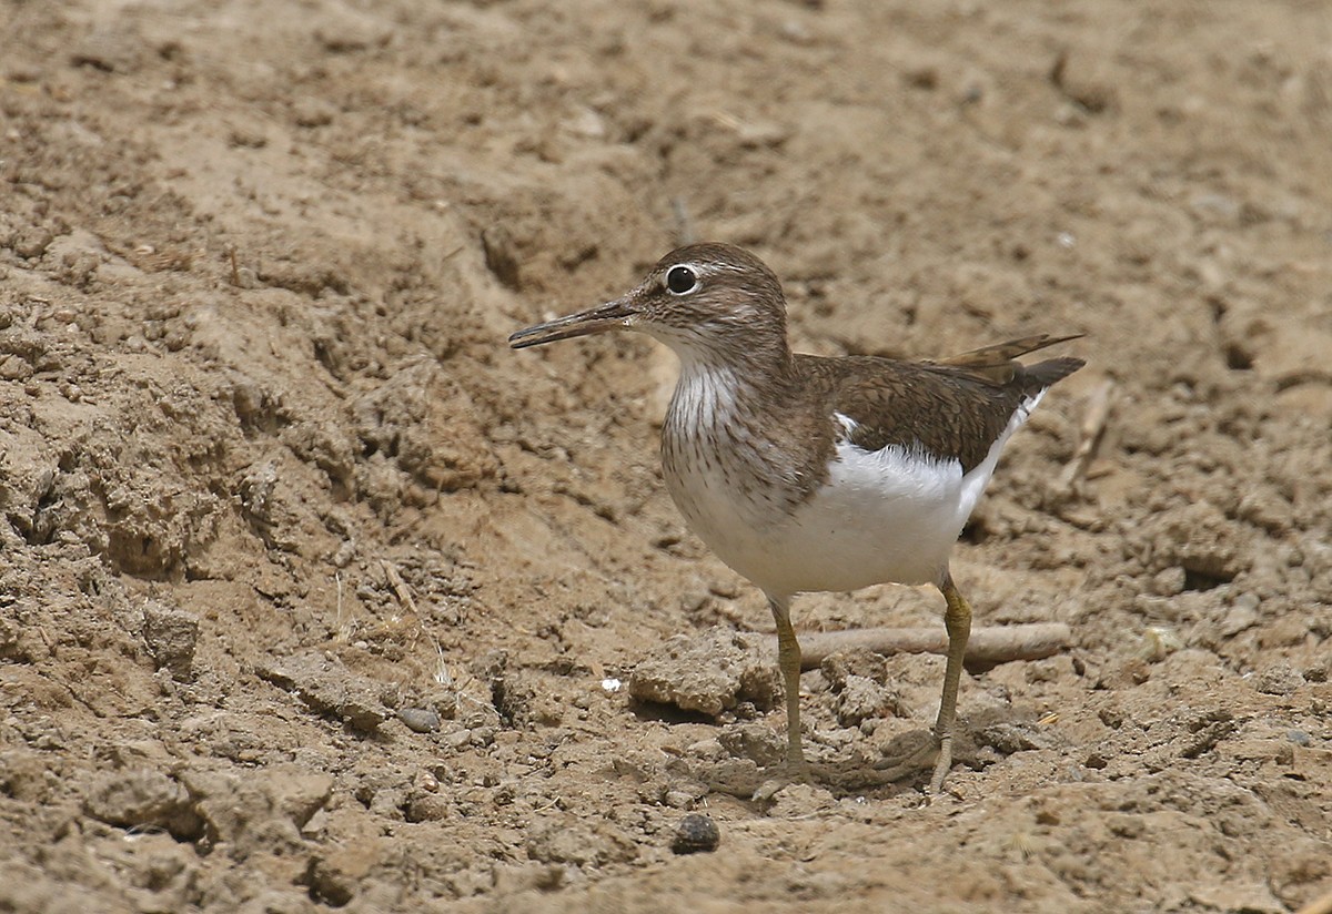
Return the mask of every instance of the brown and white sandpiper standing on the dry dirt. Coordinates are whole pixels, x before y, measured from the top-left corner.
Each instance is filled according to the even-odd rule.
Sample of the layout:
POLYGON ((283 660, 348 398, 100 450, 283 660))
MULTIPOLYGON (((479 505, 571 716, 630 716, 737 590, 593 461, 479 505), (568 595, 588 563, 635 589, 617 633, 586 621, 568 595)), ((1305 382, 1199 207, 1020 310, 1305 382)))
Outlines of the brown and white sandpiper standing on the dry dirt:
POLYGON ((801 748, 801 648, 790 603, 810 591, 934 584, 948 659, 927 790, 952 764, 971 607, 948 555, 999 452, 1078 358, 1016 359, 1075 337, 1027 337, 936 362, 793 354, 786 298, 753 254, 679 247, 627 294, 519 330, 514 349, 635 330, 679 357, 662 468, 689 527, 767 596, 786 685, 787 761, 801 748))

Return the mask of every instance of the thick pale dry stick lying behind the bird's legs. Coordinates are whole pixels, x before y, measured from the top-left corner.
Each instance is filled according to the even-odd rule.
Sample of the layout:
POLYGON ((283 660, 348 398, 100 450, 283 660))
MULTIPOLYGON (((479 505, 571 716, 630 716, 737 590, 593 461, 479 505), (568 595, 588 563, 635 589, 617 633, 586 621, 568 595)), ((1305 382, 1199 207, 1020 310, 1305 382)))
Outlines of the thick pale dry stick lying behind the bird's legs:
MULTIPOLYGON (((994 625, 971 632, 968 664, 1002 664, 1010 660, 1040 660, 1068 648, 1072 631, 1063 623, 994 625)), ((847 632, 801 633, 801 667, 814 669, 832 653, 867 648, 875 653, 947 653, 948 636, 942 628, 856 628, 847 632)))

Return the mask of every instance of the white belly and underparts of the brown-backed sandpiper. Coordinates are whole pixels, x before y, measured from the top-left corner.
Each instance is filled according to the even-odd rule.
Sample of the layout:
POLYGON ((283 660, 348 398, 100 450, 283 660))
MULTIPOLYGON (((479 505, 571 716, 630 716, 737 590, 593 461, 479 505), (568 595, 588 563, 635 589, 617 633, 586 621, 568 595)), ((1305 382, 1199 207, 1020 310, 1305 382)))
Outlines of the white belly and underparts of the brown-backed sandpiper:
MULTIPOLYGON (((697 398, 695 408, 725 423, 734 394, 707 381, 682 386, 677 396, 697 398)), ((986 459, 966 474, 958 459, 898 446, 866 451, 843 439, 827 483, 794 515, 758 492, 738 491, 711 460, 681 479, 667 474, 667 482, 694 532, 769 595, 936 584, 999 454, 1043 395, 1022 403, 986 459)), ((847 432, 854 430, 850 418, 835 418, 847 432)))

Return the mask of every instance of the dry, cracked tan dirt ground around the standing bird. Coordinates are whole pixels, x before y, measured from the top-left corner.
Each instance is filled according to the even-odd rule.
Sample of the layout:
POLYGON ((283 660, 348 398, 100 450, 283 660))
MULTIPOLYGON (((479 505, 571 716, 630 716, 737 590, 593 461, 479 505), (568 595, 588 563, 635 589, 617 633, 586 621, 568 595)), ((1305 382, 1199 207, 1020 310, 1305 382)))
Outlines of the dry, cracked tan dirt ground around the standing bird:
POLYGON ((0 0, 0 910, 1296 910, 1329 354, 1316 0, 0 0), (505 345, 685 238, 806 351, 1087 334, 954 563, 1072 644, 964 677, 932 805, 870 777, 932 656, 807 673, 842 774, 765 780, 771 621, 665 495, 669 354, 505 345), (630 697, 673 653, 705 712, 630 697))

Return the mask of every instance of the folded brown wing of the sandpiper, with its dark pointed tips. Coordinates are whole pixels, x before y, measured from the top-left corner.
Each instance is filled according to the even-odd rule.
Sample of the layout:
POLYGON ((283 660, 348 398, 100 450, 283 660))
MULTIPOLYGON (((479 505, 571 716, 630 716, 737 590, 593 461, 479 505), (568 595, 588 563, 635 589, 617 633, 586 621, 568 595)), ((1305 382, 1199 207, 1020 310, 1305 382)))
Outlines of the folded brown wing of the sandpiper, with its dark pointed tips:
POLYGON ((1059 358, 1023 366, 1018 355, 1063 342, 1030 337, 940 362, 875 357, 797 357, 811 394, 827 412, 855 422, 851 443, 867 451, 890 444, 980 464, 1022 403, 1083 366, 1059 358))

